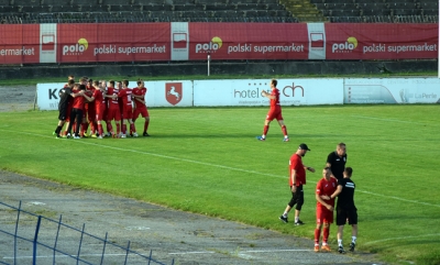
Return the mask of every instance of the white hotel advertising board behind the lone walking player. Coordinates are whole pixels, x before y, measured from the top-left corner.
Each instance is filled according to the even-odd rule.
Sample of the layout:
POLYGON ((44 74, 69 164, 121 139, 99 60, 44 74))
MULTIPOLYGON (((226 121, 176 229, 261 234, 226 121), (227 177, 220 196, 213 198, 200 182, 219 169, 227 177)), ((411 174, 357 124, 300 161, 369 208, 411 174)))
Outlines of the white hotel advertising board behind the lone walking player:
MULTIPOLYGON (((282 106, 342 104, 343 79, 278 79, 282 106)), ((270 106, 271 79, 195 80, 194 106, 270 106)))

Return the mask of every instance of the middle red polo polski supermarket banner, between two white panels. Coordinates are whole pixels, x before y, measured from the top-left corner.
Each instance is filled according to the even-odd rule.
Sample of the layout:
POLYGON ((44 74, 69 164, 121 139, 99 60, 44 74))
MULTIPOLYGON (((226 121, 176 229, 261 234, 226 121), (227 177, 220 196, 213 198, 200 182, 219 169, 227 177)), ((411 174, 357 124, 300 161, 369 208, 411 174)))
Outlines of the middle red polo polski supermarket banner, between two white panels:
POLYGON ((189 23, 189 59, 307 59, 305 23, 189 23))

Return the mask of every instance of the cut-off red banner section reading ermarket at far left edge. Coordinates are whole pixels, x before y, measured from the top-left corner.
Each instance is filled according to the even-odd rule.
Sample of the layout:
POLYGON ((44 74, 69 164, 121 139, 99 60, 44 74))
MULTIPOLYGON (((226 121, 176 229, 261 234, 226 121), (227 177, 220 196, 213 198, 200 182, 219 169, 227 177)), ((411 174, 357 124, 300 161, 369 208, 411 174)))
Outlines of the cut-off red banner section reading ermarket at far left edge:
POLYGON ((40 63, 38 24, 0 24, 0 64, 40 63))

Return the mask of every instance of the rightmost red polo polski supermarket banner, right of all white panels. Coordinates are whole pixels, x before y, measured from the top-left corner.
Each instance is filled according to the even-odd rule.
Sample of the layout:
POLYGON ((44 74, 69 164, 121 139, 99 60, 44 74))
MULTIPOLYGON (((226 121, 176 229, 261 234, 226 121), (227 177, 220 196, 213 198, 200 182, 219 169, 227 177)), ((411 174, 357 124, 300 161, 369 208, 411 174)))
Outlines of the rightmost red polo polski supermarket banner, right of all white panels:
POLYGON ((327 59, 437 58, 438 24, 326 23, 327 59))

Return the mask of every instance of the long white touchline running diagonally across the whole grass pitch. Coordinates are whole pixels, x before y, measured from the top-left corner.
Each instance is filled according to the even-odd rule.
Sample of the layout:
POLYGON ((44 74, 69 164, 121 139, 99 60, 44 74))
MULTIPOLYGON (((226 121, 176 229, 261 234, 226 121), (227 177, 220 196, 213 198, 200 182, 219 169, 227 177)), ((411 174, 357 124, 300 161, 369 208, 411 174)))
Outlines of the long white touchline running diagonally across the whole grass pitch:
MULTIPOLYGON (((9 131, 9 130, 0 130, 0 131, 12 132, 12 131, 9 131)), ((46 137, 46 139, 52 139, 53 137, 53 136, 41 135, 41 134, 35 134, 35 133, 24 133, 24 132, 15 132, 15 131, 13 133, 15 133, 15 134, 16 133, 21 133, 21 134, 46 137)), ((94 145, 94 146, 99 146, 99 147, 103 147, 103 148, 124 151, 124 152, 132 152, 132 153, 138 153, 138 154, 143 154, 143 155, 151 155, 151 156, 156 156, 156 157, 162 157, 162 158, 167 158, 167 159, 174 159, 174 161, 180 161, 180 162, 187 162, 187 163, 193 163, 193 164, 198 164, 198 165, 204 165, 204 166, 218 167, 218 168, 223 168, 223 169, 229 169, 229 170, 234 170, 234 172, 242 172, 242 173, 255 174, 255 175, 267 176, 267 177, 287 178, 285 176, 278 176, 278 175, 260 173, 260 172, 248 170, 248 169, 241 169, 241 168, 235 168, 235 167, 230 167, 230 166, 222 166, 222 165, 217 165, 217 164, 206 163, 206 162, 199 162, 199 161, 191 161, 191 159, 179 158, 179 157, 174 157, 174 156, 168 156, 168 155, 160 155, 160 154, 154 154, 154 153, 144 152, 144 151, 119 148, 119 147, 109 146, 109 145, 102 145, 102 144, 85 142, 84 140, 75 140, 75 139, 73 139, 73 140, 59 139, 59 140, 57 140, 57 139, 54 137, 54 141, 68 141, 70 143, 75 142, 75 143, 79 143, 79 144, 94 145)), ((96 141, 101 141, 101 140, 96 140, 96 141)), ((123 141, 123 140, 121 140, 121 141, 123 141)), ((309 183, 317 184, 316 181, 309 181, 309 183)), ((373 196, 378 196, 378 197, 385 197, 385 198, 389 198, 389 199, 400 200, 400 201, 405 201, 405 202, 411 202, 411 203, 416 203, 416 205, 432 206, 432 207, 440 208, 440 205, 433 205, 433 203, 418 201, 418 200, 408 200, 408 199, 399 198, 399 197, 396 197, 396 196, 380 195, 380 194, 374 194, 374 192, 371 192, 371 191, 364 191, 364 190, 359 190, 359 189, 356 189, 356 191, 363 192, 363 194, 367 194, 367 195, 373 195, 373 196)))

